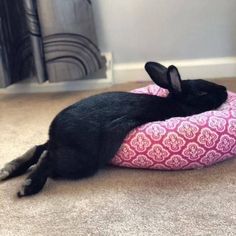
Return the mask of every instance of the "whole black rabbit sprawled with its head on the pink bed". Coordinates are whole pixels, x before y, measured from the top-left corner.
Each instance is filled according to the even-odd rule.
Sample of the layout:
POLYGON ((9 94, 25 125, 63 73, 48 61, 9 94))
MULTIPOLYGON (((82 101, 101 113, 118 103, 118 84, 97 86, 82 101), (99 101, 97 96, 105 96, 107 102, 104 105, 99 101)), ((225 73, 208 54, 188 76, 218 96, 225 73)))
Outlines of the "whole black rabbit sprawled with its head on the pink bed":
POLYGON ((224 86, 181 80, 175 66, 148 62, 152 80, 169 90, 166 98, 109 92, 69 106, 52 121, 49 140, 0 170, 0 180, 19 176, 36 164, 18 196, 38 193, 48 177, 80 179, 95 174, 115 156, 125 136, 152 121, 184 117, 218 108, 227 99, 224 86))

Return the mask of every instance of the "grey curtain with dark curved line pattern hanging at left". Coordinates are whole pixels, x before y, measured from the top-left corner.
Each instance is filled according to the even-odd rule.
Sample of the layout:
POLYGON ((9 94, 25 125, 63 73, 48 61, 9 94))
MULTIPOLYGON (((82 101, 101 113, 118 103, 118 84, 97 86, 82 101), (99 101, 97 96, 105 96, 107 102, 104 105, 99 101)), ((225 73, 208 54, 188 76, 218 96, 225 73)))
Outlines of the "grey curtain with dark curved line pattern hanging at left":
POLYGON ((0 0, 0 87, 86 78, 105 66, 89 0, 0 0))

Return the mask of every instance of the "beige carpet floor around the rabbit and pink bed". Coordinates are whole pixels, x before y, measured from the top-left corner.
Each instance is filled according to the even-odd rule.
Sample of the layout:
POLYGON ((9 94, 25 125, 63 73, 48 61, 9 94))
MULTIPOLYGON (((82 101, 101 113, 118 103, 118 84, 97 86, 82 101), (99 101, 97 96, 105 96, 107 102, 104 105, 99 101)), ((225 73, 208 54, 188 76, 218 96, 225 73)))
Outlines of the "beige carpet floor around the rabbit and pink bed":
MULTIPOLYGON (((223 84, 236 91, 235 80, 223 84)), ((44 142, 58 111, 98 92, 1 95, 0 166, 44 142)), ((181 172, 108 168, 82 181, 49 180, 19 200, 23 178, 0 183, 1 236, 236 235, 236 159, 181 172)))

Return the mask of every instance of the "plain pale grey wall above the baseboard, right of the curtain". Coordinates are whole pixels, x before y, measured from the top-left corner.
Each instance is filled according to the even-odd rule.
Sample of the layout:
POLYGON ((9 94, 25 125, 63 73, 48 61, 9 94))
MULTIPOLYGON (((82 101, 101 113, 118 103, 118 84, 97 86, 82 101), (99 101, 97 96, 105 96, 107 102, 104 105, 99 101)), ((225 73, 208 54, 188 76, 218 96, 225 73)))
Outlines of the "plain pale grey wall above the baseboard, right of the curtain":
POLYGON ((115 63, 236 56, 236 0, 93 0, 115 63))

